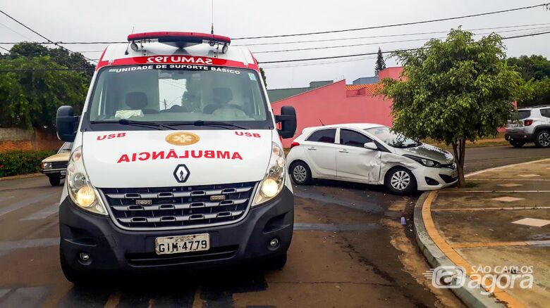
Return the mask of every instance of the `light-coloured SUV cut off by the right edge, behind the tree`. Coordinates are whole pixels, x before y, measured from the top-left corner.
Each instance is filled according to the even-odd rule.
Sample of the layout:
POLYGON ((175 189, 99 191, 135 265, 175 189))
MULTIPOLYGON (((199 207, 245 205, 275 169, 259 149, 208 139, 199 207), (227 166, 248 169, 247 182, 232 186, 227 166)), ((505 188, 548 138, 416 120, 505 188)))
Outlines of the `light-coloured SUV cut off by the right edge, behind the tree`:
POLYGON ((516 148, 527 142, 538 148, 550 147, 550 105, 518 109, 506 125, 504 138, 516 148))

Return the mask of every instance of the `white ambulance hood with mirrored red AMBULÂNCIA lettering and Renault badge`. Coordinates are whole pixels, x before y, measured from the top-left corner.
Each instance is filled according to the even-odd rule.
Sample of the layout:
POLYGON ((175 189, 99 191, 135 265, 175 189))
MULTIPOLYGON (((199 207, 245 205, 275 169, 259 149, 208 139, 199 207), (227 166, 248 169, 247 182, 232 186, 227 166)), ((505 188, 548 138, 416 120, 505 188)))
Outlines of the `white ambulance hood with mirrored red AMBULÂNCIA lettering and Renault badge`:
POLYGON ((97 188, 260 181, 271 138, 270 130, 87 131, 82 158, 97 188))

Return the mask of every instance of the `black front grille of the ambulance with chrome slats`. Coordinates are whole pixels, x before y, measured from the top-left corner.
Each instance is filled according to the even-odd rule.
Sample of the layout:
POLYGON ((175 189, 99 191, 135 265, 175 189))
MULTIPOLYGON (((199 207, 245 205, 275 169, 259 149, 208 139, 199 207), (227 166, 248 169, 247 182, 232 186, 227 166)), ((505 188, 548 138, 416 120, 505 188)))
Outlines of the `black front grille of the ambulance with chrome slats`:
POLYGON ((115 224, 128 230, 232 224, 247 214, 256 183, 102 188, 115 224))

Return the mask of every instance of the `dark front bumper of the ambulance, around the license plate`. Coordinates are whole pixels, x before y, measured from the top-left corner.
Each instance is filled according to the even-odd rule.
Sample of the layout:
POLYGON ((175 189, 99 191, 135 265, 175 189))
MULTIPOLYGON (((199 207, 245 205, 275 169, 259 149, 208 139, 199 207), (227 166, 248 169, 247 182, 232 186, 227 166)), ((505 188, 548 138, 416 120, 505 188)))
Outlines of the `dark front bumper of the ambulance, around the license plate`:
POLYGON ((60 253, 78 271, 140 271, 204 268, 240 264, 282 255, 291 244, 294 199, 288 188, 265 205, 252 208, 235 224, 172 231, 127 231, 110 217, 84 212, 66 198, 59 208, 60 253), (210 248, 203 252, 157 255, 155 239, 208 233, 210 248), (271 247, 272 239, 279 245, 271 247), (84 252, 90 259, 82 262, 84 252))

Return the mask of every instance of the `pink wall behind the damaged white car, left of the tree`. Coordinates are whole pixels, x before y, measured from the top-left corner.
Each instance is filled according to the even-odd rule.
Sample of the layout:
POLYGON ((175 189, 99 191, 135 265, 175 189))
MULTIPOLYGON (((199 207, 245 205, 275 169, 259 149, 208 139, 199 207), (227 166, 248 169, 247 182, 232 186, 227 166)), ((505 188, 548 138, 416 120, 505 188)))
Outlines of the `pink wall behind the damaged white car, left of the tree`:
MULTIPOLYGON (((386 76, 389 77, 389 76, 386 76)), ((346 81, 335 82, 271 104, 274 114, 281 114, 281 106, 292 105, 296 109, 298 129, 295 136, 305 127, 341 123, 377 123, 391 126, 391 101, 379 96, 347 96, 346 81)), ((293 139, 283 139, 283 146, 289 148, 293 139)))

